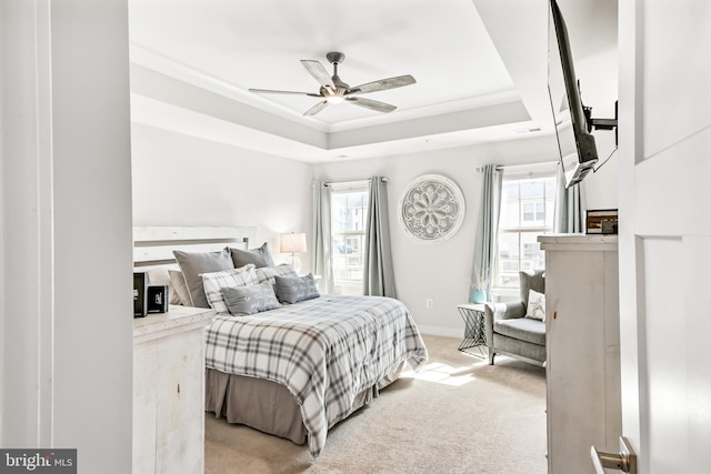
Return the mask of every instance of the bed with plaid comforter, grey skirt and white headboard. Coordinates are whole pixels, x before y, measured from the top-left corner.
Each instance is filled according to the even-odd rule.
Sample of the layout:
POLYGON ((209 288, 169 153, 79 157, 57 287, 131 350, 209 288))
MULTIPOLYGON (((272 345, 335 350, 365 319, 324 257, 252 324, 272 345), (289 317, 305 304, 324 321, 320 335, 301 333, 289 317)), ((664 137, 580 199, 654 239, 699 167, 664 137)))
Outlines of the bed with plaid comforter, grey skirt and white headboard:
MULTIPOLYGON (((253 232, 240 229, 230 232, 236 240, 228 241, 227 249, 234 245, 254 253, 232 248, 231 256, 239 253, 250 260, 257 255, 259 261, 264 245, 250 250, 246 235, 253 232)), ((199 233, 193 231, 192 235, 199 233)), ((166 240, 167 232, 149 234, 160 234, 162 240, 134 236, 143 254, 150 242, 170 248, 178 241, 166 240)), ((201 270, 190 268, 180 256, 224 252, 226 239, 217 239, 212 250, 204 248, 209 239, 197 240, 201 250, 176 253, 186 281, 194 280, 201 270)), ((254 260, 247 264, 234 260, 230 269, 227 258, 219 258, 223 270, 199 273, 206 299, 218 311, 206 333, 206 411, 216 416, 298 444, 308 443, 318 457, 329 428, 370 403, 407 364, 417 370, 427 362, 424 343, 400 301, 321 295, 312 276, 297 275, 289 265, 274 265, 270 255, 259 268, 254 260), (273 288, 279 304, 259 293, 250 301, 259 301, 261 311, 239 312, 244 309, 244 299, 232 299, 222 291, 232 285, 240 295, 251 292, 252 296, 273 288)), ((162 259, 161 265, 174 265, 174 261, 162 259)))

